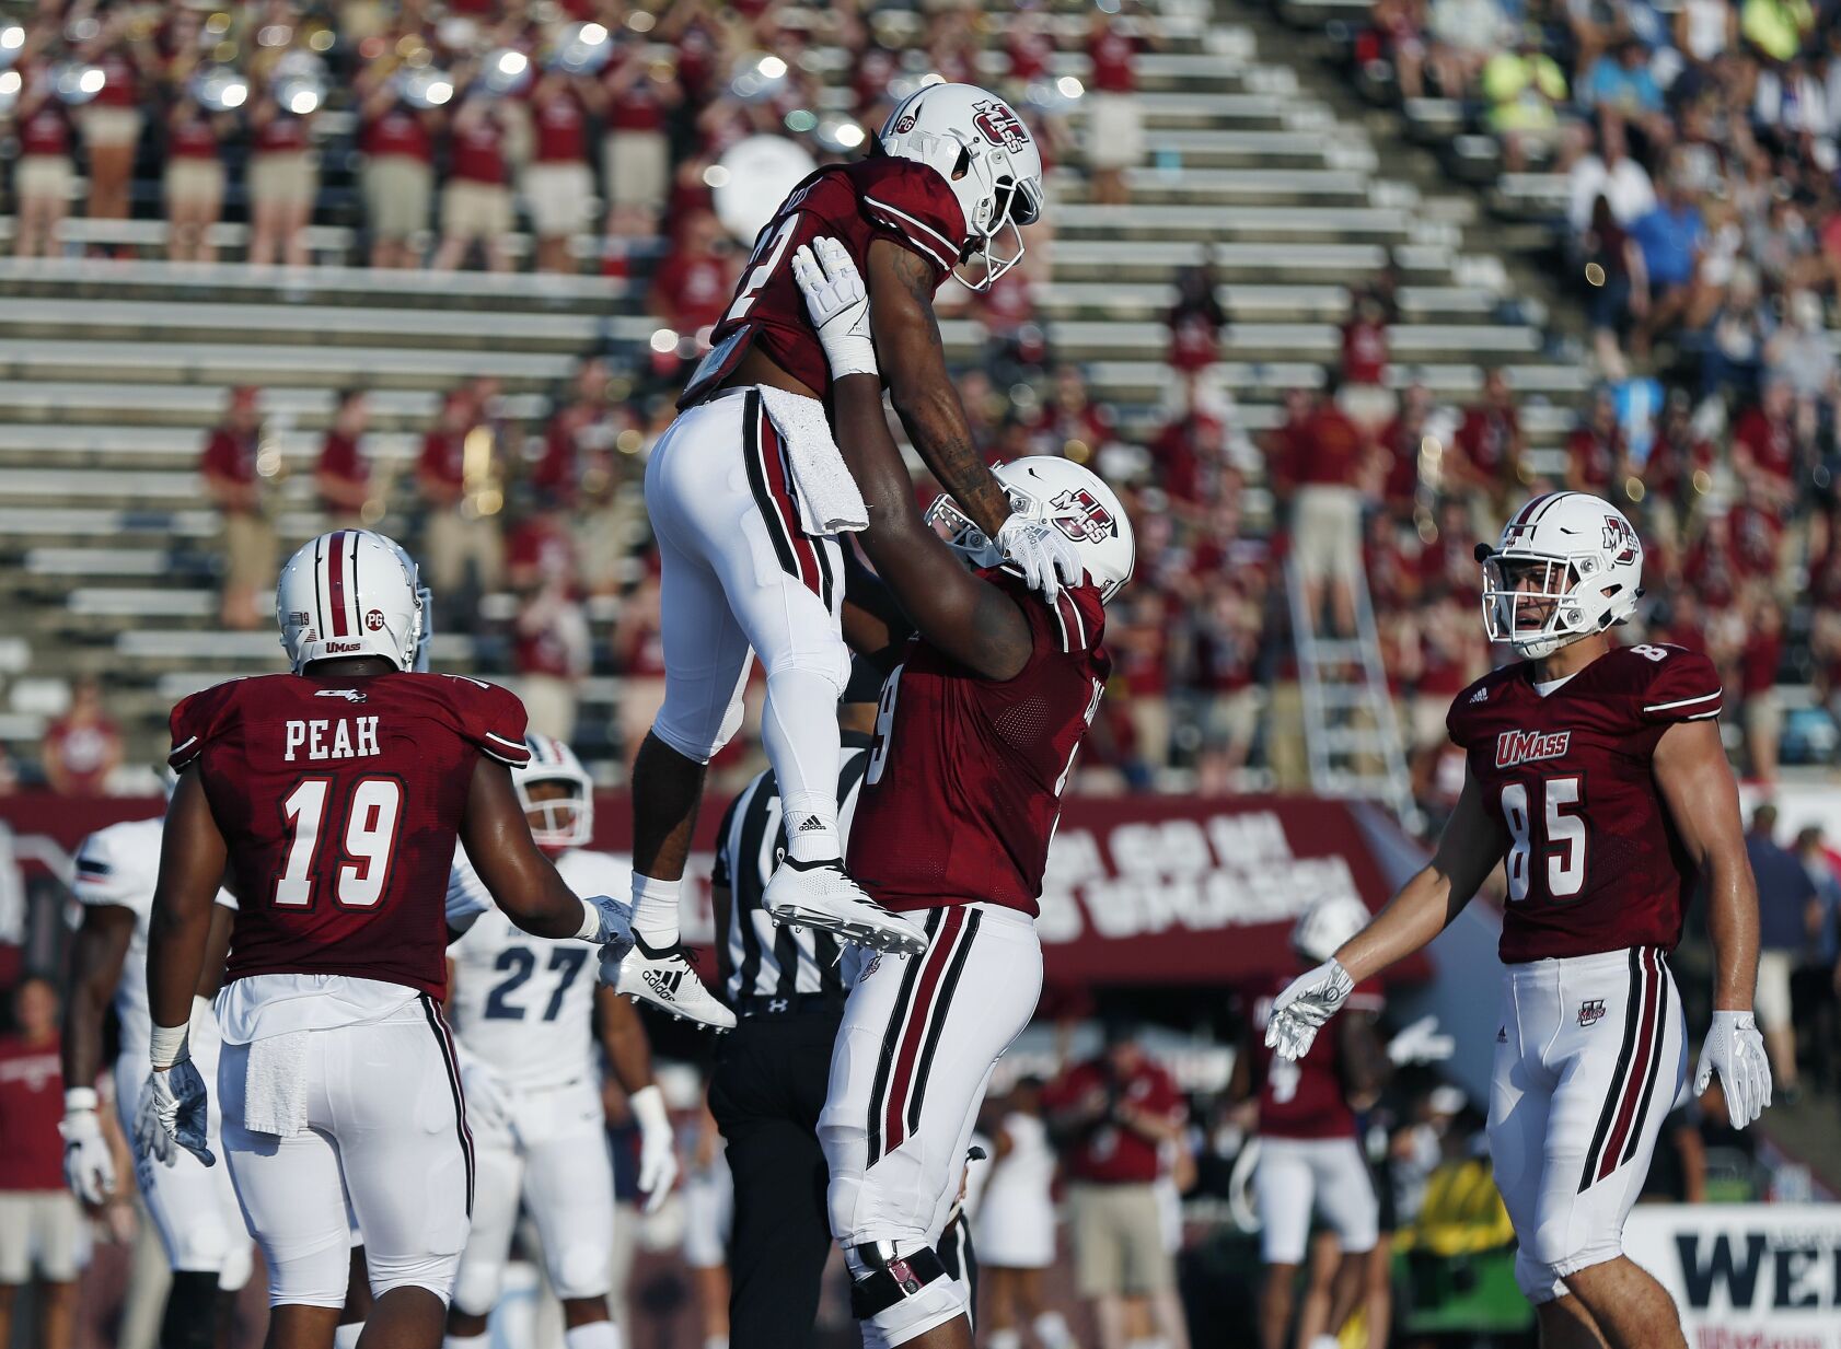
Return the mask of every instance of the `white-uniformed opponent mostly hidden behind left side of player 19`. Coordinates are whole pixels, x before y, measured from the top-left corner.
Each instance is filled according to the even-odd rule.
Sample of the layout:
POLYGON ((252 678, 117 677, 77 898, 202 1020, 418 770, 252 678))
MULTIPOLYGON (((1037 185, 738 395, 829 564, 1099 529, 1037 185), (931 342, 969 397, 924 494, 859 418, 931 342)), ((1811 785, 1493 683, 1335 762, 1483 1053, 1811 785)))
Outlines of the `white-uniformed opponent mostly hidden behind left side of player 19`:
MULTIPOLYGON (((72 893, 83 922, 72 948, 70 997, 64 1003, 64 1180, 85 1204, 101 1204, 118 1176, 96 1119, 96 1088, 103 1055, 103 1014, 114 1003, 120 1049, 114 1064, 116 1113, 134 1139, 140 1086, 147 1075, 147 915, 160 865, 164 821, 133 819, 83 839, 72 893)), ((223 977, 236 900, 217 891, 212 909, 212 951, 191 1014, 191 1056, 204 1075, 217 1071, 217 1016, 208 997, 223 977)), ((215 1097, 206 1139, 219 1147, 221 1115, 215 1097)), ((186 1154, 171 1167, 145 1154, 134 1161, 134 1182, 160 1233, 173 1286, 160 1321, 160 1349, 210 1349, 217 1332, 219 1294, 234 1294, 250 1275, 249 1231, 225 1167, 206 1167, 186 1154)))

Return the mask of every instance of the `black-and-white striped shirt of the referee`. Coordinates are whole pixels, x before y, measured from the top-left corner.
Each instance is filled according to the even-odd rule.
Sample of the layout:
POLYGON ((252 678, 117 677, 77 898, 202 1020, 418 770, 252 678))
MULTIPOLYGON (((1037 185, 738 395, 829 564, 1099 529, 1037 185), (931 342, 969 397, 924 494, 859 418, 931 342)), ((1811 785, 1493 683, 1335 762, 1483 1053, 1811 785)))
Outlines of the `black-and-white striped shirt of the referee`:
MULTIPOLYGON (((838 834, 851 836, 851 817, 869 762, 869 736, 843 734, 843 771, 838 773, 838 834)), ((729 922, 716 948, 724 1001, 827 994, 843 1001, 838 939, 810 928, 777 928, 760 904, 768 878, 784 854, 781 797, 773 771, 742 788, 716 832, 714 883, 729 891, 729 922)))

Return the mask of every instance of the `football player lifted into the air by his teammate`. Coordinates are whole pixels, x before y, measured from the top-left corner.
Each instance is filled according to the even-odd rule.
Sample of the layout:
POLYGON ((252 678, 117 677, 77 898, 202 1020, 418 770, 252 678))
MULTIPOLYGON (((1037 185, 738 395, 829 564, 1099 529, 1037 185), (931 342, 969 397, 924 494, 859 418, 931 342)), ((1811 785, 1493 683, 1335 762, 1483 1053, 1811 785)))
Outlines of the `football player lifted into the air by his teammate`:
POLYGON ((967 517, 1053 604, 1081 580, 1073 543, 1013 512, 946 374, 933 293, 987 289, 1042 213, 1042 155, 1016 112, 972 85, 904 99, 874 153, 806 177, 762 228, 712 350, 646 464, 659 541, 665 705, 633 764, 633 931, 620 990, 731 1027, 685 964, 677 896, 711 756, 735 734, 749 650, 766 672, 762 742, 786 804, 786 859, 764 904, 779 922, 898 951, 920 929, 843 869, 838 696, 845 534, 869 523, 828 421, 832 381, 886 372, 895 410, 967 517), (832 370, 792 276, 795 248, 839 241, 867 278, 871 359, 832 370))

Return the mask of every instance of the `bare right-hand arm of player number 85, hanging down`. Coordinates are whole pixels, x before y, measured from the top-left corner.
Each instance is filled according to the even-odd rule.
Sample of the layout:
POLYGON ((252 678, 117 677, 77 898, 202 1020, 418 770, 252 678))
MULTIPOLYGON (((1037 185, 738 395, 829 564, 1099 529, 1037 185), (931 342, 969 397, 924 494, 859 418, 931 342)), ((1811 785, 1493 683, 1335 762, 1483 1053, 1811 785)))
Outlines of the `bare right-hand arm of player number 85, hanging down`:
POLYGON ((1758 985, 1758 883, 1718 721, 1677 721, 1655 745, 1655 786, 1707 880, 1714 1009, 1749 1012, 1758 985))

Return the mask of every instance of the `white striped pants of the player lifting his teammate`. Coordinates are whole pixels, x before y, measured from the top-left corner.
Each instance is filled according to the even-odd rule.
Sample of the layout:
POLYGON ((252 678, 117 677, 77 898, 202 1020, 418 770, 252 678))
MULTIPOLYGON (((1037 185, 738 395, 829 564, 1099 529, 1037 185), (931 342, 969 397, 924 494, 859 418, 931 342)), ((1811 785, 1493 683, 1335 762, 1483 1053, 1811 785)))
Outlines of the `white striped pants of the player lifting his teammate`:
MULTIPOLYGON (((924 953, 867 963, 832 1049, 817 1136, 841 1248, 939 1242, 990 1069, 1042 992, 1029 915, 968 904, 924 920, 924 953)), ((906 1343, 968 1310, 950 1277, 935 1279, 865 1323, 863 1342, 906 1343)))

